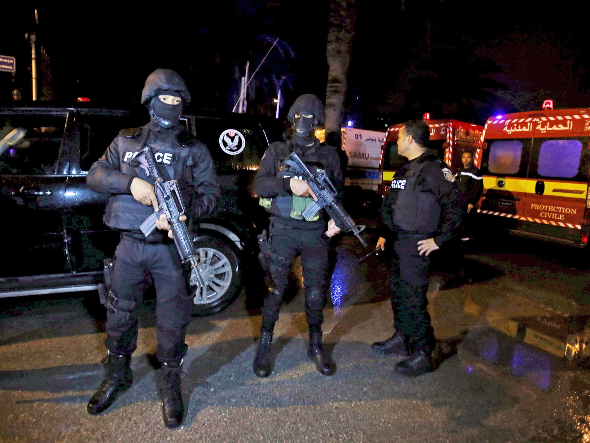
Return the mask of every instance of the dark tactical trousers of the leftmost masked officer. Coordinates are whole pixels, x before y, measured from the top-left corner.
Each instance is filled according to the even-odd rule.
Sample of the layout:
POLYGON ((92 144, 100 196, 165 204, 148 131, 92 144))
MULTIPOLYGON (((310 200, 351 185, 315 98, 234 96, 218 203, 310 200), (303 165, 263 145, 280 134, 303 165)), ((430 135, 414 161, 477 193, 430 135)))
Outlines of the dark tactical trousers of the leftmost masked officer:
POLYGON ((162 362, 185 356, 186 327, 192 300, 185 300, 186 283, 175 245, 146 243, 123 234, 113 260, 112 291, 107 304, 107 338, 111 354, 132 354, 137 346, 137 308, 150 284, 156 288, 156 357, 162 362))

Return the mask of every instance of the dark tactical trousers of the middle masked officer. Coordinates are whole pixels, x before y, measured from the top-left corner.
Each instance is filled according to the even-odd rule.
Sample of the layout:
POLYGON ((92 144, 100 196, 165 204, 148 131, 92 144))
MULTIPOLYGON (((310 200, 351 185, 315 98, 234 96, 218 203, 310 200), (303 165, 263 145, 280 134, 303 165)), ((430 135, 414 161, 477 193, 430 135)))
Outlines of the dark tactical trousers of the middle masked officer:
POLYGON ((264 298, 261 331, 272 331, 278 321, 278 311, 289 279, 289 267, 301 255, 301 268, 305 286, 305 314, 309 330, 321 331, 326 306, 328 240, 322 230, 291 229, 274 222, 270 249, 284 258, 283 263, 271 267, 273 291, 264 298))

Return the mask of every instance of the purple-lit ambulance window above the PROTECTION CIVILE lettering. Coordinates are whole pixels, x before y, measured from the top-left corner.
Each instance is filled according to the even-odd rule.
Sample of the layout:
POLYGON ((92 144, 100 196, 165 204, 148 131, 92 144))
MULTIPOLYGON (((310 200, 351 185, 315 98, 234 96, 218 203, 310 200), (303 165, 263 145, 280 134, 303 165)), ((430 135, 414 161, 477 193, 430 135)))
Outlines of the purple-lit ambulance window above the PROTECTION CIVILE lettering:
POLYGON ((546 140, 539 149, 537 172, 542 177, 575 177, 581 154, 582 142, 579 140, 546 140))

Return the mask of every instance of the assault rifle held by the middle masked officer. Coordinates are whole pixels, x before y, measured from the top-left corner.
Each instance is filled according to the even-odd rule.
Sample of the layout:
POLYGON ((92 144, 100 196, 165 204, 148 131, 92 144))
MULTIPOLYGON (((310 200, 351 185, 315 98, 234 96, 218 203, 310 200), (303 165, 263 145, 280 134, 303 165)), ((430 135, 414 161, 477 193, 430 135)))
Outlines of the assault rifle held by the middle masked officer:
POLYGON ((287 167, 291 172, 297 172, 301 175, 302 180, 307 181, 309 186, 312 188, 314 194, 316 194, 317 201, 312 201, 304 211, 303 218, 311 220, 322 208, 326 210, 331 219, 336 222, 336 226, 342 229, 344 232, 352 232, 356 238, 364 247, 367 246, 365 240, 363 240, 359 233, 365 229, 363 224, 355 224, 355 220, 349 216, 346 210, 336 200, 338 192, 332 184, 329 178, 326 176, 326 171, 323 169, 317 169, 316 172, 312 172, 307 168, 306 164, 301 161, 299 155, 295 152, 291 152, 289 157, 283 162, 283 167, 287 167))

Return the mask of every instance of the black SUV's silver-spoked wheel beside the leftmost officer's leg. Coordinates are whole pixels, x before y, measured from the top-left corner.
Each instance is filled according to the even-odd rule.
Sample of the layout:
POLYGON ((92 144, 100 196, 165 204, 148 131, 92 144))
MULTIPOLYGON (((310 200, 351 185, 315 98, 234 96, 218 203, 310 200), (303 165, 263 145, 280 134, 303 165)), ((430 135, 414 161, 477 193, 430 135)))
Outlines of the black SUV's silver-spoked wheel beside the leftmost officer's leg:
POLYGON ((227 308, 241 290, 241 266, 237 254, 227 243, 212 237, 194 240, 196 252, 204 258, 205 286, 194 290, 193 315, 211 315, 227 308))

